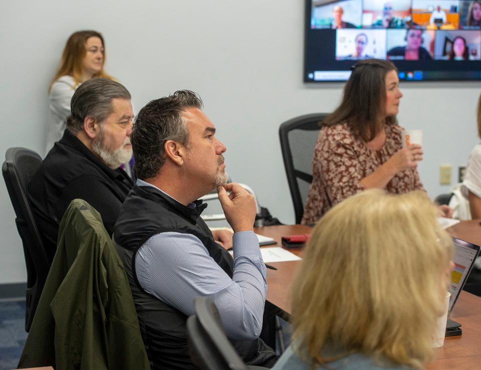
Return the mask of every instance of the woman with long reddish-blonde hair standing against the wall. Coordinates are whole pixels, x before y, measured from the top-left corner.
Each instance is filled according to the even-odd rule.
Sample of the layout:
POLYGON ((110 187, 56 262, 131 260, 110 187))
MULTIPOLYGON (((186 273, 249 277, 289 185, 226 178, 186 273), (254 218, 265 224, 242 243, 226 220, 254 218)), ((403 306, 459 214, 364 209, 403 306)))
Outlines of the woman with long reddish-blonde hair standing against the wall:
POLYGON ((105 44, 99 32, 86 30, 72 33, 65 44, 60 67, 49 86, 50 124, 45 154, 64 133, 75 89, 92 77, 112 79, 105 73, 104 63, 105 44))

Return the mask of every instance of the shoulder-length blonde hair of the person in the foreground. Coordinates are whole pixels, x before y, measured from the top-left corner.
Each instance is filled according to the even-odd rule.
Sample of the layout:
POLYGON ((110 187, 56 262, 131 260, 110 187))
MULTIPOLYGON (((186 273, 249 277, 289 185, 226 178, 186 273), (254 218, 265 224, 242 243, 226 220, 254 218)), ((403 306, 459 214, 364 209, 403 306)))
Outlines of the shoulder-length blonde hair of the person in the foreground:
POLYGON ((452 242, 422 191, 366 190, 317 223, 292 287, 295 351, 313 365, 361 352, 422 367, 452 242), (324 357, 331 344, 342 348, 324 357))

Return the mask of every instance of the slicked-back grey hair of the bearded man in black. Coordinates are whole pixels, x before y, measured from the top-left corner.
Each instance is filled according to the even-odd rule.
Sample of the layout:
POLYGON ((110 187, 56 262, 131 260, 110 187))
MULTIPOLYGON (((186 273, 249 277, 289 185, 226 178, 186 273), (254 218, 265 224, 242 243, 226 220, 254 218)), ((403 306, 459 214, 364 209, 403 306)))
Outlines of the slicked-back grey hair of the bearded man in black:
POLYGON ((119 82, 108 78, 95 77, 83 82, 72 96, 67 128, 77 133, 82 130, 86 117, 102 123, 113 112, 114 98, 130 100, 130 92, 119 82))

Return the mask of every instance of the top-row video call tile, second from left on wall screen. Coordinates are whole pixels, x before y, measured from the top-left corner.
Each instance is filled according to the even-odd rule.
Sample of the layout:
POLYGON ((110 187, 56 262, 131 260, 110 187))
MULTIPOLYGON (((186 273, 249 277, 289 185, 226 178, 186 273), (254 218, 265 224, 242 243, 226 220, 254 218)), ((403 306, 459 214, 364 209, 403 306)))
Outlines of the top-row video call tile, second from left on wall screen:
POLYGON ((410 17, 410 0, 364 0, 362 13, 364 27, 404 28, 410 17))

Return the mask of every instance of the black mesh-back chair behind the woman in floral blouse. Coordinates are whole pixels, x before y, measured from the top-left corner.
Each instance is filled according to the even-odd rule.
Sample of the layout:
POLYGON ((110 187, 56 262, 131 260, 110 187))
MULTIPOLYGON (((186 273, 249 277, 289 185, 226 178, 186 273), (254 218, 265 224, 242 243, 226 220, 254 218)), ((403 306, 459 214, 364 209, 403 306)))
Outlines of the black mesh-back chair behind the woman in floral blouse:
POLYGON ((291 190, 296 223, 304 213, 309 187, 312 182, 312 157, 320 123, 328 113, 305 114, 289 119, 279 127, 281 150, 291 190))

